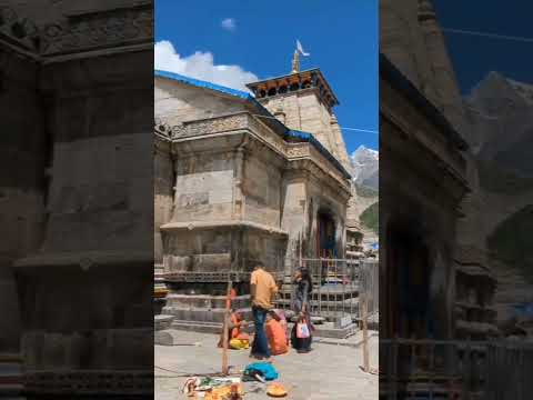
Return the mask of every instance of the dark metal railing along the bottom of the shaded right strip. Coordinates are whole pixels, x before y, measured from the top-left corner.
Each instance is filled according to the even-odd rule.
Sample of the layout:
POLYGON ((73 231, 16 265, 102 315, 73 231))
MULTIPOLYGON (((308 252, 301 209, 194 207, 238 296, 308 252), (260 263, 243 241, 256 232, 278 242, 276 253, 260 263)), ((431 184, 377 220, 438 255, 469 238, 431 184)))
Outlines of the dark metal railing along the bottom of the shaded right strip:
POLYGON ((380 399, 525 400, 533 343, 380 340, 380 399))

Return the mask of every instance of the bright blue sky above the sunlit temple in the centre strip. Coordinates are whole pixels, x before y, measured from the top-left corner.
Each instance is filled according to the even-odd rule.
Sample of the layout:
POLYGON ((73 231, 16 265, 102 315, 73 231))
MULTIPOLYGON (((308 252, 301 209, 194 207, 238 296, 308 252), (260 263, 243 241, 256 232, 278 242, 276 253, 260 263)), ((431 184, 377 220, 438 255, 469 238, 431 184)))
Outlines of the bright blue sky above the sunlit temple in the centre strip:
MULTIPOLYGON (((328 7, 323 0, 155 2, 155 41, 172 43, 163 50, 182 73, 285 74, 296 39, 311 53, 301 58, 301 69, 319 67, 339 98, 334 111, 341 127, 376 131, 378 0, 330 1, 328 7), (212 64, 238 67, 221 72, 211 71, 212 64)), ((378 149, 378 133, 343 133, 350 153, 360 144, 378 149)))

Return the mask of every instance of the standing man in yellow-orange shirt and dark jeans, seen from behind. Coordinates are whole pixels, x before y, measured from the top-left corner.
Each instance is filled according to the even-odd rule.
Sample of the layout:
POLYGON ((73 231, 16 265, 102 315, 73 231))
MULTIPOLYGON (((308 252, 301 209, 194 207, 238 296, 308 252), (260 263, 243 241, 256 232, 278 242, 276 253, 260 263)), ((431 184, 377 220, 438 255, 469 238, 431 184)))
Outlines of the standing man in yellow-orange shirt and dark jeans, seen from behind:
POLYGON ((278 293, 274 278, 264 270, 264 264, 258 262, 250 278, 250 294, 252 300, 253 323, 255 337, 253 338, 251 357, 271 361, 269 342, 264 323, 266 313, 272 309, 272 299, 278 293))

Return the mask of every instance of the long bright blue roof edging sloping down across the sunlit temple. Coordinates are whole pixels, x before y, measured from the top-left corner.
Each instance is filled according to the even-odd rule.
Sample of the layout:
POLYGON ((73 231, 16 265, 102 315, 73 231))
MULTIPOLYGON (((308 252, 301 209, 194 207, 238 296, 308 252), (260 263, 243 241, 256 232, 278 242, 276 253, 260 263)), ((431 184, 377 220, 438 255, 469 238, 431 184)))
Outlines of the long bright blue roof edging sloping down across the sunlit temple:
POLYGON ((250 101, 253 106, 255 106, 255 108, 258 109, 258 111, 261 114, 264 114, 265 117, 269 117, 269 119, 266 119, 264 122, 270 124, 271 127, 273 127, 275 130, 278 130, 278 132, 281 133, 281 136, 301 139, 303 141, 306 141, 309 143, 311 143, 312 146, 314 146, 314 148, 316 148, 316 150, 320 153, 322 153, 322 156, 324 156, 330 162, 332 162, 344 174, 344 177, 346 179, 351 179, 351 174, 346 171, 346 169, 339 162, 339 160, 336 158, 334 158, 331 154, 331 152, 328 149, 325 149, 322 146, 321 142, 319 142, 314 138, 314 136, 312 133, 302 132, 302 131, 298 131, 298 130, 290 130, 280 120, 274 118, 274 116, 272 116, 272 113, 269 110, 266 110, 266 108, 264 108, 258 100, 255 100, 255 98, 252 94, 250 94, 248 92, 244 92, 244 91, 227 88, 227 87, 223 87, 223 86, 220 86, 220 84, 205 82, 205 81, 202 81, 202 80, 199 80, 199 79, 184 77, 184 76, 175 73, 175 72, 154 70, 154 74, 157 77, 172 79, 172 80, 183 82, 183 83, 187 83, 187 84, 191 84, 191 86, 194 86, 194 87, 198 87, 198 88, 205 88, 205 89, 215 90, 215 91, 219 91, 219 92, 222 92, 222 93, 225 93, 225 94, 234 96, 234 97, 238 97, 240 99, 244 99, 244 100, 250 101))

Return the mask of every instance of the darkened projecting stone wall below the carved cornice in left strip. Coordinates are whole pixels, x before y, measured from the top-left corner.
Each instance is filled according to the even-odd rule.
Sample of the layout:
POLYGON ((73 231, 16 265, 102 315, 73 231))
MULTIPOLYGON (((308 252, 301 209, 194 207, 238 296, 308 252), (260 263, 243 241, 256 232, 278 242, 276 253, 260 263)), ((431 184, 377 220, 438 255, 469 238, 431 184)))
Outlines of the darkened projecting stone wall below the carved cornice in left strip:
MULTIPOLYGON (((74 390, 78 378, 53 383, 66 370, 89 391, 105 378, 87 370, 119 380, 121 369, 151 372, 153 199, 137 194, 153 189, 152 88, 131 86, 150 82, 151 58, 140 51, 41 69, 53 148, 46 229, 14 264, 36 392, 74 390)), ((148 393, 144 383, 130 389, 148 393)))

